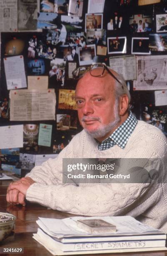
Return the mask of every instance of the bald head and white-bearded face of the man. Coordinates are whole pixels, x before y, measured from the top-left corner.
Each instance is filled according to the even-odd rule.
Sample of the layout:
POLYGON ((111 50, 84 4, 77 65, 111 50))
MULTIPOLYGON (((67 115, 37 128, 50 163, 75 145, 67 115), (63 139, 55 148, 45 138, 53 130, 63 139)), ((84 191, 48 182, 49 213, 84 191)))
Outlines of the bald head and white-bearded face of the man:
MULTIPOLYGON (((86 72, 77 83, 75 99, 81 125, 99 141, 107 138, 127 117, 128 97, 124 86, 116 81, 106 70, 96 68, 86 72), (117 84, 122 94, 117 97, 117 84), (123 89, 122 89, 123 88, 123 89)), ((112 71, 115 76, 117 73, 112 71)))

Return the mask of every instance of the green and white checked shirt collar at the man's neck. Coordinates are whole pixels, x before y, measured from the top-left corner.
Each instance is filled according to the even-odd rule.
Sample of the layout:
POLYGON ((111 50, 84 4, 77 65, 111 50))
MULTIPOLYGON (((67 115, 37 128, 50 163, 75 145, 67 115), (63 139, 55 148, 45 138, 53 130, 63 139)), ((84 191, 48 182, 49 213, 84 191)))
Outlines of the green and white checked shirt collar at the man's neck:
POLYGON ((128 139, 137 125, 137 119, 130 111, 130 115, 122 125, 120 125, 105 141, 98 145, 99 150, 112 148, 116 144, 121 148, 125 148, 128 139))

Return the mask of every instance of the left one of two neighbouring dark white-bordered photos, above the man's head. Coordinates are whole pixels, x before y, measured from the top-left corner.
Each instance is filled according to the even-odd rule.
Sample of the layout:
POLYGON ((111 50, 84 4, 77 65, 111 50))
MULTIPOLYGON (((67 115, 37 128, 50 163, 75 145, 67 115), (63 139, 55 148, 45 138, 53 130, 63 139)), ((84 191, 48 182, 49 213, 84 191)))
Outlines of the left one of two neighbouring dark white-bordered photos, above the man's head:
POLYGON ((107 38, 108 54, 124 54, 127 49, 126 36, 107 38))

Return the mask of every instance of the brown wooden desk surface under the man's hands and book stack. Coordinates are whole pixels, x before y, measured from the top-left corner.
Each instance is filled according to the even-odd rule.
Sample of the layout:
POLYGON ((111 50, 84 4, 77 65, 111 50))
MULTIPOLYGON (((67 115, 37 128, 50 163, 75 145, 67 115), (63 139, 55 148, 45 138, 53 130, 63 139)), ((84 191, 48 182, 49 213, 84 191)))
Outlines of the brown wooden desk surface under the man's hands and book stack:
MULTIPOLYGON (((8 183, 8 182, 7 182, 8 183)), ((72 216, 71 214, 59 212, 51 209, 47 209, 42 205, 32 204, 27 202, 25 207, 23 206, 12 206, 7 204, 6 202, 6 190, 7 190, 7 183, 0 184, 0 212, 10 212, 17 217, 15 223, 15 234, 14 236, 10 236, 2 244, 0 244, 0 248, 5 247, 23 247, 24 254, 17 254, 17 255, 26 255, 26 256, 51 256, 52 254, 49 253, 42 245, 37 243, 32 238, 32 233, 37 232, 37 223, 36 220, 38 217, 43 218, 67 218, 72 216)), ((16 254, 6 253, 0 254, 2 256, 13 256, 16 254)), ((81 254, 80 254, 81 255, 81 254)), ((87 256, 92 255, 87 254, 87 256)), ((100 254, 93 254, 93 255, 100 255, 100 254)), ((103 256, 122 256, 122 255, 130 255, 130 256, 167 256, 167 252, 141 252, 141 253, 105 253, 101 254, 103 256)))

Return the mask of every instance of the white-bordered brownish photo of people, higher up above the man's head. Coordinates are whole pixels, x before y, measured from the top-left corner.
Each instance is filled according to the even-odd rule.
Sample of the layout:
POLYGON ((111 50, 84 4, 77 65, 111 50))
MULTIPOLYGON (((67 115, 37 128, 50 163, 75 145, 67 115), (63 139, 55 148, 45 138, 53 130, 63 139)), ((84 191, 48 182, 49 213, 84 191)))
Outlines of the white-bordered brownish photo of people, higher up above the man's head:
POLYGON ((103 14, 85 14, 85 32, 89 30, 102 29, 103 14))

